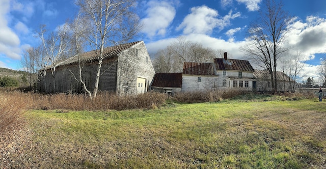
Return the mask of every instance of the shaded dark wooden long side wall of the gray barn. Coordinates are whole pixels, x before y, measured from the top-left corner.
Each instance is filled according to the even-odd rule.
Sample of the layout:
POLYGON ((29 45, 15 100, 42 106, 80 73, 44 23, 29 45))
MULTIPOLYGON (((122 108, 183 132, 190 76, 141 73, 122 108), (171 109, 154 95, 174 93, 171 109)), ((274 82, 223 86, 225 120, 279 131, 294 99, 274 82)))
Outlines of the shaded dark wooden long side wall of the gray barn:
MULTIPOLYGON (((88 90, 93 92, 95 87, 95 78, 97 73, 98 62, 85 63, 82 70, 82 78, 88 90)), ((53 88, 53 76, 51 70, 48 69, 46 76, 39 82, 41 92, 46 92, 44 83, 48 93, 65 92, 65 93, 80 93, 82 85, 79 80, 78 65, 70 64, 56 68, 56 89, 53 88), (76 80, 77 79, 77 80, 76 80), (44 80, 46 80, 44 82, 44 80)), ((102 62, 101 76, 99 79, 98 89, 115 92, 116 91, 116 72, 117 58, 106 59, 102 62)))

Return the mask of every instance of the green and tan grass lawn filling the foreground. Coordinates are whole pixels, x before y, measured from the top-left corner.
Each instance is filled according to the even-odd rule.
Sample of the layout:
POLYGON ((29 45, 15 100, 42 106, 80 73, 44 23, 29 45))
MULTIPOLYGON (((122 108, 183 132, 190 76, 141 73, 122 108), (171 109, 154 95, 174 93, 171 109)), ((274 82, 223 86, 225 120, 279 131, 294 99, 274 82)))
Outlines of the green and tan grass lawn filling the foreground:
MULTIPOLYGON (((265 100, 265 101, 263 101, 265 100)), ((18 167, 325 168, 326 103, 224 100, 151 110, 26 113, 18 167)))

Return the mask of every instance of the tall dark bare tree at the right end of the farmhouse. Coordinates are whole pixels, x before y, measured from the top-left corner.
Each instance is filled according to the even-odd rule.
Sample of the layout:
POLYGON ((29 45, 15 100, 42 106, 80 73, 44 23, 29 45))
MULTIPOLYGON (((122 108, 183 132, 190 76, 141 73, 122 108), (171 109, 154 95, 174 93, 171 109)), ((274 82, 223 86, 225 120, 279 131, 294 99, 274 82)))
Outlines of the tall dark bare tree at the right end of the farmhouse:
POLYGON ((249 41, 241 50, 262 69, 270 74, 271 88, 277 92, 277 61, 287 49, 287 25, 291 20, 283 10, 282 2, 264 1, 265 7, 259 11, 259 17, 248 30, 249 41))

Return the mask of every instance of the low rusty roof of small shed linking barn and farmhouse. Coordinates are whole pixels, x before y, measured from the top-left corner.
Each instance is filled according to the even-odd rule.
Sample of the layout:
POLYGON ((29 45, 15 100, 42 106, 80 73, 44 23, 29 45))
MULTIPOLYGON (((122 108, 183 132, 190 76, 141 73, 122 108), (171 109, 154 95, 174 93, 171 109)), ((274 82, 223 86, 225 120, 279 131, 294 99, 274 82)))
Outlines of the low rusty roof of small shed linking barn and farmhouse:
POLYGON ((152 87, 181 88, 182 73, 156 73, 152 87))

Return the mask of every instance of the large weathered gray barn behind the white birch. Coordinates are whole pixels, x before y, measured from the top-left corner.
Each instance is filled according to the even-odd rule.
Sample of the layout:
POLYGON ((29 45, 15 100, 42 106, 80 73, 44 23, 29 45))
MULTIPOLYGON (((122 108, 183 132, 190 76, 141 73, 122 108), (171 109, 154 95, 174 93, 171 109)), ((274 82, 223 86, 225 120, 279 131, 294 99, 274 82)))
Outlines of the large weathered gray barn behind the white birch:
MULTIPOLYGON (((116 93, 119 96, 144 93, 149 89, 155 71, 144 41, 131 42, 104 49, 104 60, 99 79, 99 91, 116 93)), ((93 91, 98 60, 95 51, 83 53, 82 78, 87 89, 93 91)), ((78 79, 78 57, 69 58, 56 67, 55 78, 50 67, 41 77, 38 87, 41 92, 83 92, 78 79), (55 79, 55 80, 54 80, 55 79), (55 82, 55 88, 53 86, 55 82)))

